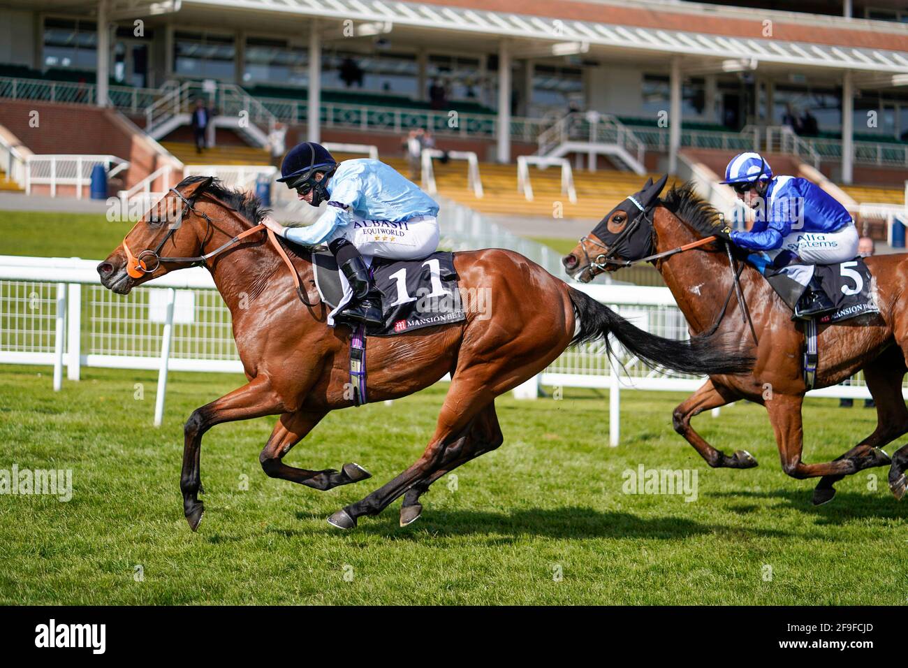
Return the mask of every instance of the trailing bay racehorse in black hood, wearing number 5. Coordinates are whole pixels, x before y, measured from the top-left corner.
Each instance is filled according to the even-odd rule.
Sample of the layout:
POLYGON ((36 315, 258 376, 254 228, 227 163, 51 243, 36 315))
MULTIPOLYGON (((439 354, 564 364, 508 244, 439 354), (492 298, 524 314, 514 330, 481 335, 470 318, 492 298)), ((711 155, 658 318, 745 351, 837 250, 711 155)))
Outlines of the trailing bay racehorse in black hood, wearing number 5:
MULTIPOLYGON (((795 478, 823 476, 814 489, 814 504, 832 500, 834 483, 845 475, 890 464, 880 448, 908 432, 908 409, 902 398, 902 379, 908 371, 908 313, 901 299, 908 287, 908 257, 866 258, 879 314, 819 326, 821 354, 814 386, 838 384, 863 370, 878 422, 873 434, 834 462, 806 464, 801 422, 806 391, 804 325, 792 322, 791 310, 753 265, 739 264, 739 252, 716 239, 714 234, 725 226, 723 218, 697 197, 692 184, 676 184, 660 200, 665 182, 665 177, 656 184, 650 179, 581 239, 562 264, 568 274, 587 282, 604 271, 652 262, 675 296, 691 334, 725 332, 740 342, 740 352, 754 354, 752 373, 710 374, 678 405, 673 414, 676 432, 710 466, 750 468, 757 465, 753 456, 745 451, 728 456, 716 450, 694 431, 690 420, 738 399, 765 405, 785 473, 795 478), (734 278, 738 273, 739 286, 734 278), (739 291, 740 301, 731 299, 733 290, 739 291)), ((905 493, 906 465, 908 446, 893 455, 889 476, 899 499, 905 493)))

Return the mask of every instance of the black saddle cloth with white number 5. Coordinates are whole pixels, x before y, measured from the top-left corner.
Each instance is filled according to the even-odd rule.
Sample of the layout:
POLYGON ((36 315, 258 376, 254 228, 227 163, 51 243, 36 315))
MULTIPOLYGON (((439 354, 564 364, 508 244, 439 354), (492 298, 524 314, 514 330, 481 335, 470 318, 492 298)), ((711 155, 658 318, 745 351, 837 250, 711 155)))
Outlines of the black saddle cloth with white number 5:
MULTIPOLYGON (((759 268, 759 264, 757 266, 759 268)), ((839 264, 788 264, 783 267, 768 264, 761 272, 793 312, 807 285, 817 278, 835 306, 834 311, 818 318, 821 323, 840 323, 858 315, 880 312, 871 293, 873 276, 862 257, 839 264)))

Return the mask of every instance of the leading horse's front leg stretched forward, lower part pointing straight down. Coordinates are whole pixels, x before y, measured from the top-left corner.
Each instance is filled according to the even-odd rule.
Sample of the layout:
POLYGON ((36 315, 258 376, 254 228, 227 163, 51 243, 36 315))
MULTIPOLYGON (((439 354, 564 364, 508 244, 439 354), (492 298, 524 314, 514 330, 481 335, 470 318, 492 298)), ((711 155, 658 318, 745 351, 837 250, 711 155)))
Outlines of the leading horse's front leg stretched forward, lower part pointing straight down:
POLYGON ((183 473, 180 474, 183 513, 192 531, 199 528, 205 512, 199 501, 202 489, 199 470, 202 435, 215 424, 272 415, 281 410, 281 400, 271 389, 271 382, 267 377, 259 376, 232 393, 215 399, 211 404, 192 411, 183 426, 183 473))

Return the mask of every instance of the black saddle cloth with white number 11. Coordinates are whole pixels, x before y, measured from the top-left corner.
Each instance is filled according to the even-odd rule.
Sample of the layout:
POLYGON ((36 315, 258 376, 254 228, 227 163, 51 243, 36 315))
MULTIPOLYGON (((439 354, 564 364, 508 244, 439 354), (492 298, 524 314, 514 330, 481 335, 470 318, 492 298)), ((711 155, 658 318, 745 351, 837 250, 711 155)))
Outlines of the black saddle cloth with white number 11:
MULTIPOLYGON (((363 259, 381 293, 384 321, 380 329, 366 334, 392 336, 466 319, 452 253, 438 251, 419 260, 363 259)), ((350 302, 347 279, 328 251, 313 251, 312 266, 321 300, 333 309, 328 324, 334 326, 334 316, 350 302)))

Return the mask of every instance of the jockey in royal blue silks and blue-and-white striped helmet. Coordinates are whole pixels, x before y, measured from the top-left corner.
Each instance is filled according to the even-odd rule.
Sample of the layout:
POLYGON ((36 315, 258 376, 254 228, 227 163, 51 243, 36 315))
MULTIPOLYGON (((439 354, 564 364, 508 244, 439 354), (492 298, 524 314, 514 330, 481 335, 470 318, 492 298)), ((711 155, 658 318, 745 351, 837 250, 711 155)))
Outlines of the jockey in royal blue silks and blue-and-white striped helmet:
MULTIPOLYGON (((738 198, 755 210, 749 232, 733 230, 731 241, 752 251, 754 264, 838 264, 857 255, 858 234, 848 210, 807 179, 774 176, 756 153, 735 155, 725 167, 725 180, 738 198), (767 259, 768 258, 768 259, 767 259)), ((760 267, 761 269, 763 267, 760 267)), ((819 314, 832 304, 813 282, 798 313, 819 314)))

